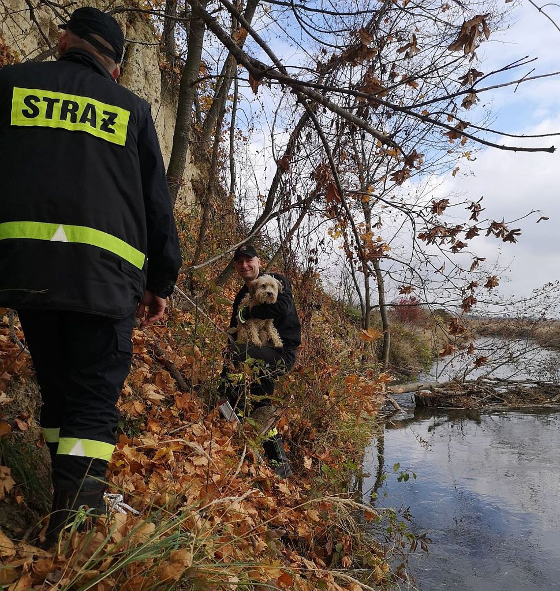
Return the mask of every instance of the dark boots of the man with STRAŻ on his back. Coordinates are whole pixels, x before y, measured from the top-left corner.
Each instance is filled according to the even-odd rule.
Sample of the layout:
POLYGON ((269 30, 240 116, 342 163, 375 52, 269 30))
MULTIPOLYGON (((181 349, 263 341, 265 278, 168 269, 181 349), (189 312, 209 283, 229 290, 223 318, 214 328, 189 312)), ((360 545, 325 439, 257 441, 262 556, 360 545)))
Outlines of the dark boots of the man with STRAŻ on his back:
POLYGON ((47 532, 43 548, 49 550, 56 543, 58 535, 74 521, 76 514, 82 514, 82 521, 78 531, 86 530, 86 526, 93 525, 95 519, 106 512, 103 495, 107 485, 92 476, 82 480, 82 486, 64 480, 54 483, 53 508, 48 521, 47 532), (88 511, 87 517, 85 512, 88 511))

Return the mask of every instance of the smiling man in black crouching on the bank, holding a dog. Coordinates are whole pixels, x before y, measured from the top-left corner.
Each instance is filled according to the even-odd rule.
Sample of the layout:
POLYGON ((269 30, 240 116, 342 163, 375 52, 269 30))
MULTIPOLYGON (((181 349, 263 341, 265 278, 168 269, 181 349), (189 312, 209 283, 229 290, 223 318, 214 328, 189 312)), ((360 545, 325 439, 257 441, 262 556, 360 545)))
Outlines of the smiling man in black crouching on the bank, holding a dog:
MULTIPOLYGON (((264 407, 271 406, 270 398, 274 395, 276 380, 294 367, 297 348, 301 343, 301 327, 299 326, 298 313, 294 306, 289 281, 285 277, 282 277, 282 275, 271 272, 267 272, 267 274, 281 281, 284 286, 284 290, 278 294, 276 303, 260 304, 259 306, 253 306, 251 308, 242 307, 240 309, 241 300, 249 292, 248 286, 250 282, 263 275, 261 271, 261 260, 253 246, 244 244, 239 246, 233 254, 233 265, 239 277, 245 281, 245 285, 239 290, 233 301, 230 329, 235 328, 237 322, 246 322, 249 318, 270 318, 273 320, 274 326, 278 330, 282 343, 284 344, 281 349, 250 345, 248 343, 243 343, 242 345, 234 343, 229 347, 234 367, 239 367, 239 364, 244 363, 248 358, 264 362, 264 365, 256 365, 258 367, 259 378, 250 386, 252 405, 246 411, 252 411, 253 416, 255 416, 256 411, 260 408, 265 411, 263 414, 266 416, 266 410, 268 409, 264 407)), ((223 375, 226 378, 226 392, 228 393, 230 404, 237 408, 243 408, 244 401, 240 400, 239 388, 235 387, 235 382, 227 384, 227 375, 231 376, 232 374, 228 374, 226 368, 223 375)), ((274 466, 276 474, 281 478, 289 478, 292 475, 292 470, 284 450, 282 437, 275 427, 268 432, 267 438, 263 441, 263 449, 269 462, 274 466)))

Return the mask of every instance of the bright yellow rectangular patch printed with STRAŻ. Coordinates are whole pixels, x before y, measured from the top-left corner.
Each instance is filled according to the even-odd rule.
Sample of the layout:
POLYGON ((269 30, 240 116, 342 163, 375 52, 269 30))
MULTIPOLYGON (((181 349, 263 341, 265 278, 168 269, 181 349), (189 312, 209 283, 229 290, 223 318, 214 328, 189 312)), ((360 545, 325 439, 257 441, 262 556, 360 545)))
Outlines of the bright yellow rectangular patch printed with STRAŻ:
POLYGON ((130 111, 88 96, 14 87, 11 124, 85 131, 125 145, 130 111))

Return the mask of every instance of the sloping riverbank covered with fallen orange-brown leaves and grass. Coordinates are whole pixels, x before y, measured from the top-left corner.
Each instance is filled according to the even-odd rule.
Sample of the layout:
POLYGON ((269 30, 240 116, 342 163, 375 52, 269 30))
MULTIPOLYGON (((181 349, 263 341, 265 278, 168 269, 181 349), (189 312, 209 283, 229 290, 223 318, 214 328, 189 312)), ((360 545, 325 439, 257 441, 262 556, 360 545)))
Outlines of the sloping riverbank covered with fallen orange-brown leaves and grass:
MULTIPOLYGON (((108 478, 112 492, 139 515, 115 514, 90 532, 71 531, 54 553, 38 550, 34 541, 49 496, 38 389, 31 360, 2 316, 0 582, 11 591, 53 584, 95 591, 163 591, 178 584, 359 591, 389 587, 401 577, 398 565, 411 544, 405 530, 393 514, 385 519, 347 493, 375 432, 389 376, 375 363, 364 364, 357 334, 344 354, 349 336, 340 333, 348 329, 334 310, 312 324, 304 320, 313 336, 308 333, 297 367, 279 385, 284 413, 278 428, 295 477, 279 480, 259 463, 253 428, 239 430, 216 411, 218 327, 227 326, 228 309, 217 296, 205 304, 211 317, 175 306, 165 326, 134 332, 108 478), (330 362, 317 366, 315 359, 330 362), (30 453, 17 456, 19 449, 30 453), (42 505, 34 504, 37 491, 43 491, 42 505), (366 537, 360 522, 377 527, 376 537, 366 537)), ((23 339, 17 323, 15 330, 23 339)))

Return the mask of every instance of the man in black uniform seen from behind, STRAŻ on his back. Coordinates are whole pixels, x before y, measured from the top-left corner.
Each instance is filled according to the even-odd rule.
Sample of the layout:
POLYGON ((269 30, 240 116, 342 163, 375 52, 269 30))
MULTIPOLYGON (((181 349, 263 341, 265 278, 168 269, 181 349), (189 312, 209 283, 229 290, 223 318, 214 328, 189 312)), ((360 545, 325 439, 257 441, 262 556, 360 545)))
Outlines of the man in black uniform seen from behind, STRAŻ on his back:
POLYGON ((0 305, 41 388, 47 545, 102 506, 134 318, 161 319, 181 265, 150 106, 115 82, 121 28, 90 7, 61 28, 58 61, 0 70, 0 305))

